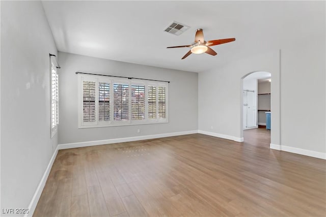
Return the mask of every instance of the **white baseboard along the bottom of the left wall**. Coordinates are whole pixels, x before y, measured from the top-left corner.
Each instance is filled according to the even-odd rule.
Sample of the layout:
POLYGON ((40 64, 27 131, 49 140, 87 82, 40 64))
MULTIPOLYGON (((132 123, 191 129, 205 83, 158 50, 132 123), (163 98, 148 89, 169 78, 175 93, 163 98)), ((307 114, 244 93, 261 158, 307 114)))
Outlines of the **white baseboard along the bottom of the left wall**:
POLYGON ((50 174, 50 171, 51 171, 51 168, 52 168, 52 165, 53 165, 53 162, 55 162, 55 159, 57 157, 57 154, 58 154, 58 147, 56 148, 55 152, 53 152, 52 154, 52 157, 50 159, 50 162, 49 164, 47 165, 46 169, 45 169, 45 172, 41 178, 41 181, 33 195, 33 198, 31 200, 31 203, 29 205, 29 210, 30 212, 28 214, 25 214, 24 216, 33 216, 33 213, 35 211, 35 208, 36 208, 36 205, 37 203, 39 202, 39 199, 41 197, 41 194, 43 192, 43 189, 44 189, 44 186, 45 186, 45 183, 46 183, 46 180, 47 180, 47 177, 49 176, 50 174))

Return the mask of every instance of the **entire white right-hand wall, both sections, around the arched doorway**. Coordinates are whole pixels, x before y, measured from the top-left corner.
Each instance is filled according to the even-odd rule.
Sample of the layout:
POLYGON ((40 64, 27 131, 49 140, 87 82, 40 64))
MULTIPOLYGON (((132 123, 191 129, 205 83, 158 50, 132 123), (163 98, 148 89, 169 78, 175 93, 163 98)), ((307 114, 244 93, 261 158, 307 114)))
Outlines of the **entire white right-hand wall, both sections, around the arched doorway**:
POLYGON ((214 126, 215 133, 242 137, 240 79, 267 71, 272 80, 271 143, 325 156, 325 34, 304 41, 283 45, 280 56, 278 51, 260 54, 200 73, 199 130, 214 126))

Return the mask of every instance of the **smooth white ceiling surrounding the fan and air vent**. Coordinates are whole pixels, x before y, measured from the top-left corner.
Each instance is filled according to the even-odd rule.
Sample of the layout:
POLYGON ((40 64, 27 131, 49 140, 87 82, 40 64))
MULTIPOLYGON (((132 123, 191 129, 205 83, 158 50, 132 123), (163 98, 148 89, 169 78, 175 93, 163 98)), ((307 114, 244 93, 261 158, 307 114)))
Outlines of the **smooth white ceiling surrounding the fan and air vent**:
POLYGON ((59 51, 192 72, 322 33, 324 5, 310 1, 43 1, 59 51), (180 36, 164 32, 172 21, 191 28, 180 36), (188 48, 166 48, 191 44, 197 28, 204 29, 206 41, 236 41, 213 46, 216 56, 192 54, 183 60, 188 48))

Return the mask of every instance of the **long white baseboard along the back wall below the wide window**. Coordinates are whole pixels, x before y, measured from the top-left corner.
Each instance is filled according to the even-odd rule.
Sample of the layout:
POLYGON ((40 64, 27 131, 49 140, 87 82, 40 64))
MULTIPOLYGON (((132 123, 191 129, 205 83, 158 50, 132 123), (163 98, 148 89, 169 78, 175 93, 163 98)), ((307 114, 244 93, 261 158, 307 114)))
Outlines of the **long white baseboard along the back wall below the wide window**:
POLYGON ((89 141, 89 142, 66 143, 66 144, 59 144, 58 149, 60 150, 60 149, 67 149, 67 148, 105 145, 105 144, 112 144, 112 143, 119 143, 119 142, 132 142, 132 141, 139 141, 139 140, 145 140, 145 139, 157 139, 157 138, 170 137, 170 136, 181 136, 181 135, 194 134, 194 133, 198 133, 198 131, 197 130, 182 131, 182 132, 155 134, 155 135, 148 135, 148 136, 135 136, 135 137, 118 138, 118 139, 105 139, 105 140, 89 141))

